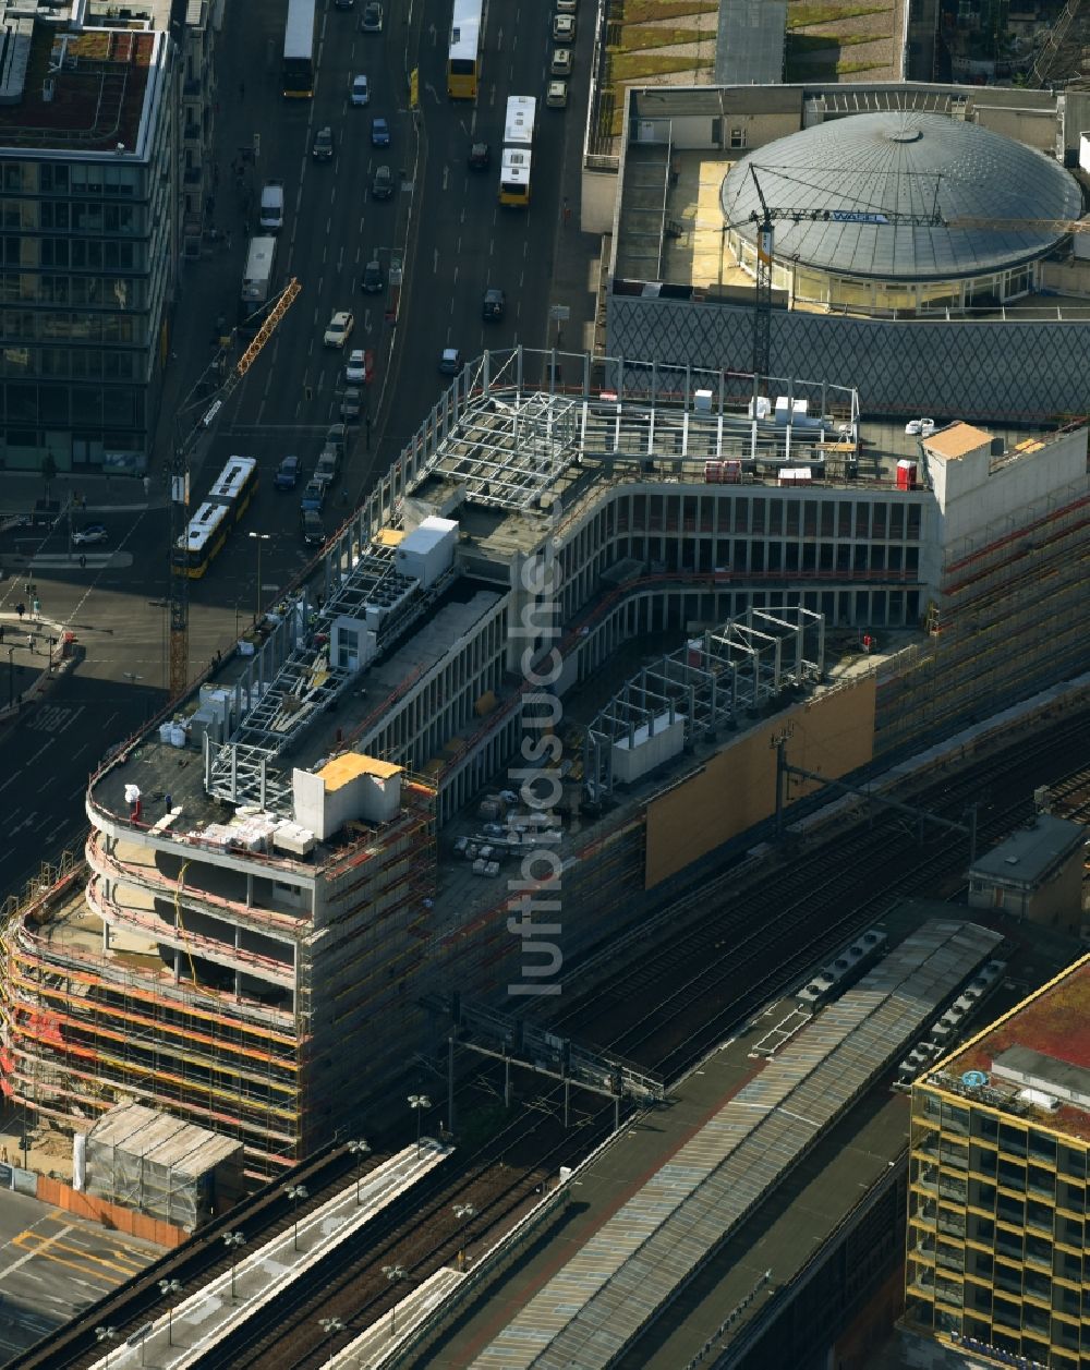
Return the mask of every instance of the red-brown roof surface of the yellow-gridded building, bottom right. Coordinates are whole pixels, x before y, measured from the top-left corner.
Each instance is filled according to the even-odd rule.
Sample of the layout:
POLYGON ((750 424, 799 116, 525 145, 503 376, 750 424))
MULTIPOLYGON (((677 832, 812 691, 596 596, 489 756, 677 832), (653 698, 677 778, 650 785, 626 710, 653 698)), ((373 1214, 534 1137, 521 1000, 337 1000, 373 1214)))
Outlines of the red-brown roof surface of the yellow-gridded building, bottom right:
MULTIPOLYGON (((963 1080, 969 1071, 982 1071, 989 1077, 989 1085, 1002 1085, 1001 1077, 991 1081, 991 1075, 997 1060, 1012 1047, 1026 1048, 1056 1062, 1057 1070, 1063 1066, 1090 1070, 1090 955, 1082 956, 1004 1014, 963 1051, 946 1058, 939 1070, 927 1074, 924 1081, 942 1089, 963 1080)), ((967 1091, 967 1097, 974 1097, 972 1091, 967 1091)), ((991 1097, 982 1101, 1004 1107, 1001 1100, 991 1097)), ((1064 1104, 1056 1112, 1049 1112, 1046 1126, 1090 1141, 1090 1111, 1074 1104, 1064 1104)))

